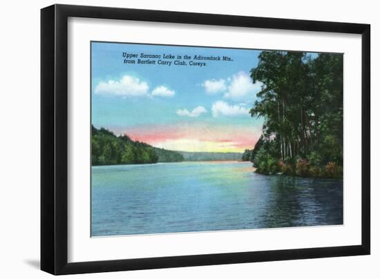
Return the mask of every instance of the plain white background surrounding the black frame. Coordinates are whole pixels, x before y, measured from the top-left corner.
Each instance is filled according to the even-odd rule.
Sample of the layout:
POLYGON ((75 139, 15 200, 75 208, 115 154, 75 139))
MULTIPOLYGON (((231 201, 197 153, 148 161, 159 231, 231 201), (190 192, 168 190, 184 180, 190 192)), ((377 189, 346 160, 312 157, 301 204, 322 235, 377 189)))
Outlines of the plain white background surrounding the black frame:
MULTIPOLYGON (((3 1, 0 41, 0 277, 39 271, 39 9, 53 1, 3 1)), ((380 7, 377 1, 61 1, 92 6, 370 23, 372 28, 372 255, 79 275, 79 278, 379 278, 380 7), (378 50, 378 51, 376 51, 378 50)), ((359 94, 359 93, 358 93, 359 94)), ((358 113, 359 117, 359 113, 358 113)), ((358 146, 359 148, 359 146, 358 146)), ((359 162, 358 162, 359 166, 359 162)))

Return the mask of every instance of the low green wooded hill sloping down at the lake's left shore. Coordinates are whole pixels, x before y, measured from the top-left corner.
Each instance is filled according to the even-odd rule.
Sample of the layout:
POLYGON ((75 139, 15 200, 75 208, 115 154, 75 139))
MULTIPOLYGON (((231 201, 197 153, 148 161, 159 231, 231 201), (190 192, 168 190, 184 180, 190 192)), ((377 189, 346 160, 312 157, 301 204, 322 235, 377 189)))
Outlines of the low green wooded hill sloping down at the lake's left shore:
POLYGON ((180 153, 154 148, 143 142, 134 142, 126 135, 116 137, 105 128, 97 129, 92 126, 91 135, 93 166, 183 161, 180 153))

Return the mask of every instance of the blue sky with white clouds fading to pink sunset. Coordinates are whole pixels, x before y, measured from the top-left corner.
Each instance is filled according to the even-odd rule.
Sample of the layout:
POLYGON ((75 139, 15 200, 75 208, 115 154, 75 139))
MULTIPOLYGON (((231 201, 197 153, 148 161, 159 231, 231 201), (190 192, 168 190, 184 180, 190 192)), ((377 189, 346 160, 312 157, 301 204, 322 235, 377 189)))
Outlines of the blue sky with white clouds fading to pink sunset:
POLYGON ((95 127, 178 151, 243 152, 260 137, 263 120, 249 115, 261 87, 249 77, 259 50, 101 42, 91 48, 95 127), (122 52, 220 55, 233 61, 146 66, 124 64, 122 52))

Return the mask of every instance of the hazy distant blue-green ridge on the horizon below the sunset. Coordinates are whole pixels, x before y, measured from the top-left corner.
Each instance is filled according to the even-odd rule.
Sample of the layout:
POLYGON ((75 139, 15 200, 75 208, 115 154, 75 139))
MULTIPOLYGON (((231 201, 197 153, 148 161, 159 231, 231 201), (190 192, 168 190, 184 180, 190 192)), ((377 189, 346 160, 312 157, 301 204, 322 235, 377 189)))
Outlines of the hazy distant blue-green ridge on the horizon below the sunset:
POLYGON ((243 155, 236 152, 177 152, 183 155, 185 161, 240 161, 243 155))

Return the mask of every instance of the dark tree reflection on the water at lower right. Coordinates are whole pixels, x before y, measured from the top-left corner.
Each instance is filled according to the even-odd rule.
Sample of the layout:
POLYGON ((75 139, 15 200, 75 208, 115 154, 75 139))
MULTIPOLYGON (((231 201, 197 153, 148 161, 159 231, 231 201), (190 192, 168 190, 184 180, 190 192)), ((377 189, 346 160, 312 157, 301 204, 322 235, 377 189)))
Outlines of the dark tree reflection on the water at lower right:
POLYGON ((265 227, 343 223, 343 183, 339 180, 272 176, 265 227))

